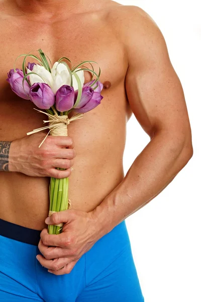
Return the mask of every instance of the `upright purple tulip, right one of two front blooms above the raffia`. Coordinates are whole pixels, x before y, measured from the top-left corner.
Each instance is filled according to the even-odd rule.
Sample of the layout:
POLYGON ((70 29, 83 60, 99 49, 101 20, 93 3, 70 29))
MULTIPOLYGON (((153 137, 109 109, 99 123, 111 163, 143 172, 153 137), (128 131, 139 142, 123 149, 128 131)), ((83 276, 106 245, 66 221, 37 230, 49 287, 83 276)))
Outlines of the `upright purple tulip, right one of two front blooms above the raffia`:
POLYGON ((74 105, 74 88, 69 85, 61 86, 56 92, 56 109, 60 112, 70 110, 74 105))

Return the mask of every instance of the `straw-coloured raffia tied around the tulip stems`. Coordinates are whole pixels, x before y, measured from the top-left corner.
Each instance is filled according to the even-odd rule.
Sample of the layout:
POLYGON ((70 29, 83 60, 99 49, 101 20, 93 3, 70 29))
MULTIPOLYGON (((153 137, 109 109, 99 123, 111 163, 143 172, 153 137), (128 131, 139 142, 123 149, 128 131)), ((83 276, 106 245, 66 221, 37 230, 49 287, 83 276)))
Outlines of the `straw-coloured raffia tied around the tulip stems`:
MULTIPOLYGON (((45 130, 45 129, 50 129, 49 132, 47 133, 47 135, 45 136, 45 138, 42 140, 42 142, 40 143, 40 145, 38 146, 40 148, 40 146, 43 144, 43 142, 45 141, 45 139, 47 138, 48 134, 50 133, 50 135, 54 135, 54 136, 67 136, 68 135, 68 130, 67 130, 67 125, 76 119, 82 118, 83 117, 83 113, 78 113, 75 114, 73 116, 71 116, 70 118, 68 118, 67 115, 58 115, 57 112, 55 111, 54 115, 51 115, 47 112, 38 110, 36 108, 34 108, 35 110, 37 110, 38 112, 44 113, 48 116, 48 121, 43 121, 44 123, 49 123, 48 126, 45 127, 41 127, 41 128, 37 128, 34 129, 31 132, 27 132, 27 135, 45 130)), ((68 208, 71 207, 71 202, 70 199, 68 199, 68 208)), ((55 211, 49 211, 48 216, 52 215, 53 213, 56 213, 55 211)), ((59 224, 55 224, 57 226, 63 226, 63 223, 59 223, 59 224)))

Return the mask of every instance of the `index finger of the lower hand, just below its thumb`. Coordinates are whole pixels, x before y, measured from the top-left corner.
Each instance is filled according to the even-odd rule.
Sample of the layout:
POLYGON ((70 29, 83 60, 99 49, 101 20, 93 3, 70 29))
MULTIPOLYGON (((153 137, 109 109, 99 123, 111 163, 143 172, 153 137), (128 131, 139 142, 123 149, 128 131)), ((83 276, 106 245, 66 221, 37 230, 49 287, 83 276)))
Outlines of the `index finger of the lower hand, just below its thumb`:
POLYGON ((58 235, 49 235, 47 229, 41 232, 41 240, 46 246, 56 246, 68 248, 68 237, 66 233, 61 233, 58 235))

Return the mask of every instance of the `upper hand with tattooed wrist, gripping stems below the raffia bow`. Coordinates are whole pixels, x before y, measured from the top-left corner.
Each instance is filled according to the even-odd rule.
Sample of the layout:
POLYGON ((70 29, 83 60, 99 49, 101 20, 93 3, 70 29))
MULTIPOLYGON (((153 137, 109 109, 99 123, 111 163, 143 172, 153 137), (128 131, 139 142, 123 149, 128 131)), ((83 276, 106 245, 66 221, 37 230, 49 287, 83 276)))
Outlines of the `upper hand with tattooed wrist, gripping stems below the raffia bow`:
POLYGON ((48 135, 39 148, 45 136, 46 133, 38 132, 13 140, 9 153, 9 171, 39 177, 69 177, 76 156, 72 137, 48 135))

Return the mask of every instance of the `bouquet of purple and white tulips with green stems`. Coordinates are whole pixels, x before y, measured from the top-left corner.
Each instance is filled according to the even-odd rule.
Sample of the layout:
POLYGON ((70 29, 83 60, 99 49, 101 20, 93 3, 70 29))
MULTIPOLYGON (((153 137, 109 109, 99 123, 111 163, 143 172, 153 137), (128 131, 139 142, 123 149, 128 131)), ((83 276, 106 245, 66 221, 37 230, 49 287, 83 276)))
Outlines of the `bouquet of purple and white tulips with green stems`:
MULTIPOLYGON (((71 61, 67 57, 60 58, 52 65, 49 57, 41 49, 38 49, 38 53, 39 57, 30 53, 18 56, 17 59, 24 56, 22 69, 16 68, 15 61, 14 69, 8 72, 7 81, 19 97, 30 100, 38 108, 46 110, 44 112, 36 109, 48 116, 48 121, 44 121, 44 123, 48 122, 48 125, 34 129, 28 132, 28 135, 45 129, 49 129, 47 135, 67 135, 67 125, 73 120, 82 118, 85 112, 95 108, 103 99, 100 95, 103 89, 103 84, 99 82, 100 68, 97 74, 91 64, 96 63, 95 61, 80 61, 81 63, 70 68, 67 63, 71 61), (36 60, 37 63, 26 64, 28 57, 36 60), (80 68, 85 63, 89 63, 91 69, 85 66, 80 68), (84 84, 84 70, 91 74, 91 81, 86 84, 84 84), (93 80, 94 75, 96 79, 93 80), (68 118, 71 110, 76 114, 68 118)), ((62 170, 62 168, 57 169, 62 170)), ((49 197, 49 215, 68 209, 70 205, 68 178, 51 177, 49 197)), ((48 225, 49 234, 61 233, 62 226, 62 223, 48 225)))

